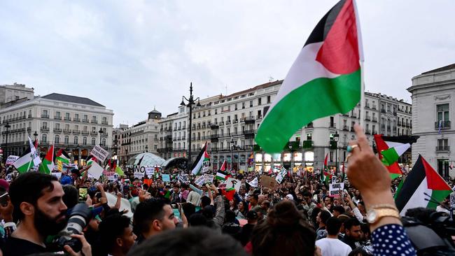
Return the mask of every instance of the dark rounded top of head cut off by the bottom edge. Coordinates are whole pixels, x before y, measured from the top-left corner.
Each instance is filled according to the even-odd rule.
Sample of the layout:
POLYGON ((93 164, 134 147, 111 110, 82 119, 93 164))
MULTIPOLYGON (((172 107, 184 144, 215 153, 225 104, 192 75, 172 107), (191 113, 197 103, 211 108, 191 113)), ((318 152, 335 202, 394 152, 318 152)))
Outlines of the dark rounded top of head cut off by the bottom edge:
POLYGON ((246 252, 232 236, 207 227, 190 227, 153 236, 140 246, 134 246, 128 255, 246 256, 246 252))

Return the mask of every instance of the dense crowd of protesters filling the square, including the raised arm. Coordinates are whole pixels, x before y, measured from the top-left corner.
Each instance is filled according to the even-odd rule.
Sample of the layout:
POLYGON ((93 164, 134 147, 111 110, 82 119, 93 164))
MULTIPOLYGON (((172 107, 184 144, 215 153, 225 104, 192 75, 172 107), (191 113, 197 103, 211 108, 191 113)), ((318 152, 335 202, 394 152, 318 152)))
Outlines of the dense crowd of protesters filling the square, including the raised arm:
POLYGON ((274 187, 238 173, 233 194, 223 181, 196 185, 192 176, 94 180, 90 167, 59 179, 30 171, 0 180, 0 248, 7 256, 416 255, 394 214, 398 184, 358 126, 356 134, 338 197, 320 176, 296 173, 274 187))

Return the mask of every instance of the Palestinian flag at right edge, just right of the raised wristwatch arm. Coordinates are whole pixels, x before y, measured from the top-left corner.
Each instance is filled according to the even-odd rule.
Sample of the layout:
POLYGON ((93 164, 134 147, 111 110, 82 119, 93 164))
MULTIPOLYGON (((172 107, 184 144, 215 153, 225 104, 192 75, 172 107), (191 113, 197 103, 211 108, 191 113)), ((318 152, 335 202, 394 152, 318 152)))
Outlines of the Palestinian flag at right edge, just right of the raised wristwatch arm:
POLYGON ((440 202, 452 192, 445 180, 426 162, 421 155, 409 172, 403 183, 395 204, 400 215, 405 215, 407 209, 416 207, 436 208, 433 201, 440 202), (426 196, 430 195, 430 197, 426 196))

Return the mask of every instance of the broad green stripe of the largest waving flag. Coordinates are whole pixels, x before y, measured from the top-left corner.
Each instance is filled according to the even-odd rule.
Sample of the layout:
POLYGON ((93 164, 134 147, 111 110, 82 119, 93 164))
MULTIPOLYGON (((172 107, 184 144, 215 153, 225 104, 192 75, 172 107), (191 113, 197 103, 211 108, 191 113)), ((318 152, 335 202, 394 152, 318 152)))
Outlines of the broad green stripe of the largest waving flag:
POLYGON ((336 78, 316 78, 289 92, 269 110, 255 141, 266 152, 281 152, 297 129, 318 118, 348 113, 358 101, 360 69, 336 78))

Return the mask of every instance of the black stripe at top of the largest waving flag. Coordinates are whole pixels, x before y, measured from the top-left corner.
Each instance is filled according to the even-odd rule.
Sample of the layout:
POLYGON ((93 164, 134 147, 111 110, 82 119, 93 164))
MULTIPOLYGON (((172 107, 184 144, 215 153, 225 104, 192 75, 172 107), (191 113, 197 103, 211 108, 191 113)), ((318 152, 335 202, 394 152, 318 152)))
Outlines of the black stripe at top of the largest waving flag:
POLYGON ((339 1, 335 6, 333 6, 328 13, 325 13, 324 17, 319 20, 316 27, 314 27, 313 31, 309 35, 307 42, 305 45, 309 45, 310 43, 318 43, 325 40, 325 37, 328 34, 328 31, 332 28, 332 24, 337 19, 339 11, 344 6, 346 0, 339 1))

